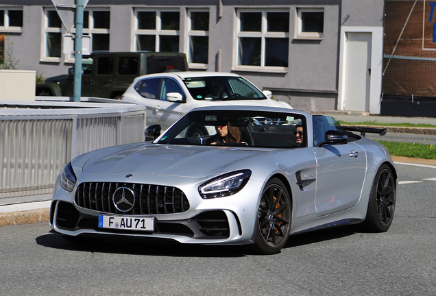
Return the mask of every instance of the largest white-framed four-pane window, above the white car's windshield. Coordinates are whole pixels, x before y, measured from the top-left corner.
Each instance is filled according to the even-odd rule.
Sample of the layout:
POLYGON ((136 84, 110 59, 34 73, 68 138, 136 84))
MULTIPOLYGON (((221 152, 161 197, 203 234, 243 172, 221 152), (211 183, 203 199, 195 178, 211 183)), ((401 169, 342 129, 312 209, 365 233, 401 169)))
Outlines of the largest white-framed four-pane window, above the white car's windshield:
POLYGON ((237 66, 280 69, 288 66, 289 11, 238 11, 237 66))

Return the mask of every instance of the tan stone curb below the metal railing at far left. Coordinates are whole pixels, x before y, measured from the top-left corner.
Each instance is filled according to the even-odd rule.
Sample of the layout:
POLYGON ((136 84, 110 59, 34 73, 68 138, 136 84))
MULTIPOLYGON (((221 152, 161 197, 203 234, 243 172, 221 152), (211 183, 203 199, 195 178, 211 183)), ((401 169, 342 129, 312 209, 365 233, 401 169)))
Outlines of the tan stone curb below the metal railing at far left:
POLYGON ((0 226, 48 222, 49 208, 0 213, 0 226))

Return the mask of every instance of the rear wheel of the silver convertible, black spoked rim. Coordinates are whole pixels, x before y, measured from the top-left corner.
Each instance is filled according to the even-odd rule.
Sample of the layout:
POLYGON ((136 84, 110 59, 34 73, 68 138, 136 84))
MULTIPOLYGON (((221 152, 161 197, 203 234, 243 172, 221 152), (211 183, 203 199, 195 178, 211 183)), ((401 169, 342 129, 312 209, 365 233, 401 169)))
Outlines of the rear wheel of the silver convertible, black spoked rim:
POLYGON ((368 209, 362 229, 367 232, 387 232, 391 226, 396 202, 396 181, 387 164, 383 164, 372 183, 368 209))

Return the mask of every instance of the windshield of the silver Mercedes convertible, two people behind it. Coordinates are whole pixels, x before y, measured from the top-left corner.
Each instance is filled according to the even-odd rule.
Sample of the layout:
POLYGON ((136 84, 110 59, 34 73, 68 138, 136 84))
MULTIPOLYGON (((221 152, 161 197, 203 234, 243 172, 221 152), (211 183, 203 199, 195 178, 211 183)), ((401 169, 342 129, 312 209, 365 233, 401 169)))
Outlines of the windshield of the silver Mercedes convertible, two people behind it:
POLYGON ((186 114, 157 143, 295 148, 306 147, 306 138, 306 119, 301 114, 210 110, 186 114))

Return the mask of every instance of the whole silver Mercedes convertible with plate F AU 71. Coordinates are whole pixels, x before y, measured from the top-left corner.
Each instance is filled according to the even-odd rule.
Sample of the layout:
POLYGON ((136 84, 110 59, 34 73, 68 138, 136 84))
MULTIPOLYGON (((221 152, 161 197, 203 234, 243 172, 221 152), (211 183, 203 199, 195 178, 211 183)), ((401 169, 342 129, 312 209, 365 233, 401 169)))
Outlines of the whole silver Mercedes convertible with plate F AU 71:
POLYGON ((152 141, 71 160, 56 181, 50 225, 68 240, 253 244, 262 254, 337 225, 385 232, 398 177, 368 132, 385 134, 289 108, 197 108, 163 134, 147 127, 152 141))

